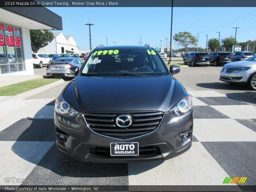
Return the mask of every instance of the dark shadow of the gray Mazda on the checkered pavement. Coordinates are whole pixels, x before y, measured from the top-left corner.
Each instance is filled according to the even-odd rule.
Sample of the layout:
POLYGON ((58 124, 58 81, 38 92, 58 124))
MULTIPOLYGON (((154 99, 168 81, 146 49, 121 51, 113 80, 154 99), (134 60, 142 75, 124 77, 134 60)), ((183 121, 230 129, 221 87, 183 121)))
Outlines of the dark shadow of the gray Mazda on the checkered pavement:
MULTIPOLYGON (((16 141, 12 145, 12 151, 15 154, 36 165, 28 178, 37 178, 36 174, 38 174, 38 177, 40 177, 40 174, 44 174, 46 179, 52 175, 75 178, 128 176, 127 163, 84 163, 60 153, 55 144, 54 119, 51 118, 54 112, 54 104, 55 102, 52 100, 41 108, 36 115, 20 119, 1 134, 4 140, 16 141), (19 127, 18 131, 17 127, 19 127)), ((140 167, 132 174, 146 172, 162 163, 163 161, 145 162, 143 164, 132 163, 133 166, 140 167)))

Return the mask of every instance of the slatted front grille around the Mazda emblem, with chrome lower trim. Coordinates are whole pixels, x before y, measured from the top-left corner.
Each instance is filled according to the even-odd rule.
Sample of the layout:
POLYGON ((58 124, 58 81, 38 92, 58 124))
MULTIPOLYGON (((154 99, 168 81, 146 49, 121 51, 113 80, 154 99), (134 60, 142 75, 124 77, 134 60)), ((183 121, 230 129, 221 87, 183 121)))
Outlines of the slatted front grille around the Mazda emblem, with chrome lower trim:
POLYGON ((116 139, 131 139, 153 132, 159 126, 164 113, 160 111, 127 112, 133 122, 129 127, 116 125, 116 117, 123 112, 116 113, 86 113, 84 118, 89 128, 96 133, 116 139))

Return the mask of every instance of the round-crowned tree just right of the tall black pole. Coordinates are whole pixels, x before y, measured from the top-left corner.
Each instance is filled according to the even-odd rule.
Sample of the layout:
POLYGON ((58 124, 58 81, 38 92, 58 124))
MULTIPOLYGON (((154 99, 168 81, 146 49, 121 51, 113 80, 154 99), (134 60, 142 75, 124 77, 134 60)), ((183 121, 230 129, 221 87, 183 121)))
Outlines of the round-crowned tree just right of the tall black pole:
POLYGON ((177 41, 181 46, 184 46, 185 52, 187 52, 188 45, 196 44, 196 37, 192 36, 191 33, 187 31, 175 33, 173 40, 177 41))

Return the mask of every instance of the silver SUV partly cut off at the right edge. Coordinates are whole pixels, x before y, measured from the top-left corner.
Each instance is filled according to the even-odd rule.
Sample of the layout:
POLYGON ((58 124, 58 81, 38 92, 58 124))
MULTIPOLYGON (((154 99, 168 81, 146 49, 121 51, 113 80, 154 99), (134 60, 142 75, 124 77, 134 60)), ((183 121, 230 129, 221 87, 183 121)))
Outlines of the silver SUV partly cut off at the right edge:
POLYGON ((256 91, 256 55, 245 61, 228 63, 220 71, 220 81, 230 84, 248 84, 256 91))

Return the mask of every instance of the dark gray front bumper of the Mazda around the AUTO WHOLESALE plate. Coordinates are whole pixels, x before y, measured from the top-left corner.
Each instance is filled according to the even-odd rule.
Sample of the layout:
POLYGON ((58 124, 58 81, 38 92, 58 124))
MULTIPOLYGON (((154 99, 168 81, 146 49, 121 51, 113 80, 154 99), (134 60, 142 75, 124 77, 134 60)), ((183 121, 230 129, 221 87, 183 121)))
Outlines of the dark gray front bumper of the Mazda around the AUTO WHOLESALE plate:
POLYGON ((58 150, 83 162, 129 163, 167 160, 187 151, 192 144, 193 109, 180 117, 165 113, 159 127, 148 135, 128 140, 108 138, 92 132, 85 124, 82 114, 68 118, 54 112, 56 145, 58 150), (180 133, 191 130, 188 140, 180 133), (57 139, 57 134, 68 135, 66 142, 57 139), (138 142, 138 156, 110 156, 111 142, 138 142))

